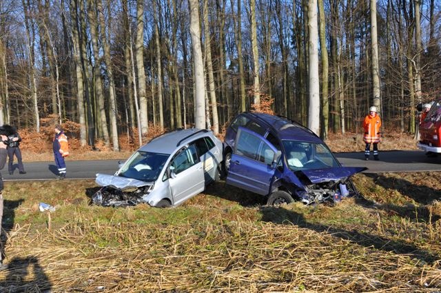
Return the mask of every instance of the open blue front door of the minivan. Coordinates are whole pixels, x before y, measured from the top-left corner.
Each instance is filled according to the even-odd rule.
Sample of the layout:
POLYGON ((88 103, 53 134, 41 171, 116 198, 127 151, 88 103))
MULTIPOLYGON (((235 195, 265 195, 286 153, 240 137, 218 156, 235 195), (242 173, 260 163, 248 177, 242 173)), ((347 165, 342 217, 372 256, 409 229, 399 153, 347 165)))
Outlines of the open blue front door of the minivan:
POLYGON ((277 153, 274 145, 256 132, 239 128, 227 184, 257 194, 268 194, 276 172, 273 162, 277 153))

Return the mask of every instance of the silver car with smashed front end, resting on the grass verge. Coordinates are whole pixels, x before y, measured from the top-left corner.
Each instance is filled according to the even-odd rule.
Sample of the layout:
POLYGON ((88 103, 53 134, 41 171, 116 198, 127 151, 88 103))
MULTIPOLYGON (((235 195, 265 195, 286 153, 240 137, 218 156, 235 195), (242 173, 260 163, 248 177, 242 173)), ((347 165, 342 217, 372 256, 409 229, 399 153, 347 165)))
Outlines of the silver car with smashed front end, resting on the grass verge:
POLYGON ((196 128, 168 132, 136 150, 114 175, 96 174, 95 181, 103 188, 92 196, 92 203, 174 207, 217 181, 222 160, 222 141, 213 132, 196 128))

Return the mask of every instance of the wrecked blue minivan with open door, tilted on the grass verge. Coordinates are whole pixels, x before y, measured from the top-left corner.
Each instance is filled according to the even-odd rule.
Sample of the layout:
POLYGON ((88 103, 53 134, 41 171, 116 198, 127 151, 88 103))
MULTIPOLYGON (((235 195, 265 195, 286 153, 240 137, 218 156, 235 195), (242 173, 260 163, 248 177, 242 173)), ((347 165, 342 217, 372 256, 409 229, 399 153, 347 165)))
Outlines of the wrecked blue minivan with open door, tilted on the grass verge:
POLYGON ((357 195, 349 179, 367 168, 342 167, 314 132, 284 117, 243 112, 224 141, 226 182, 267 197, 268 205, 340 201, 357 195))

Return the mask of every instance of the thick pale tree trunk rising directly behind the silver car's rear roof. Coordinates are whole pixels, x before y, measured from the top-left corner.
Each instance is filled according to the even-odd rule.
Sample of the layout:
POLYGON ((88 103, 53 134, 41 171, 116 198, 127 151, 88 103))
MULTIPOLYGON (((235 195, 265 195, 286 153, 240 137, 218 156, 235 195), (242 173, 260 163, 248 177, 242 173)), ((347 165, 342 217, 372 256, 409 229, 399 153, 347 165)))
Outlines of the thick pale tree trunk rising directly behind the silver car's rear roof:
POLYGON ((201 50, 201 30, 199 28, 200 19, 198 0, 189 0, 189 8, 196 101, 194 121, 196 128, 205 129, 205 75, 201 50))

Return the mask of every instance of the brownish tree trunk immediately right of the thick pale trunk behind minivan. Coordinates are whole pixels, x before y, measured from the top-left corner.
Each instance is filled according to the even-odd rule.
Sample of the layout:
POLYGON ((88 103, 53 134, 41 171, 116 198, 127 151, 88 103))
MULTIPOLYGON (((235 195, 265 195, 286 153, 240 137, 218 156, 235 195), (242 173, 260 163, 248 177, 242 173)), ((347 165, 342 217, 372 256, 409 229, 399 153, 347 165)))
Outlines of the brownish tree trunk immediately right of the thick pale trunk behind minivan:
POLYGON ((329 123, 329 97, 328 97, 328 50, 326 47, 326 17, 323 0, 318 0, 318 12, 320 14, 320 51, 322 52, 322 125, 320 127, 320 137, 323 140, 328 138, 329 123))

